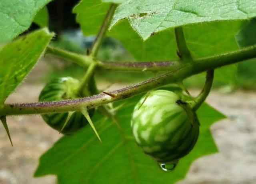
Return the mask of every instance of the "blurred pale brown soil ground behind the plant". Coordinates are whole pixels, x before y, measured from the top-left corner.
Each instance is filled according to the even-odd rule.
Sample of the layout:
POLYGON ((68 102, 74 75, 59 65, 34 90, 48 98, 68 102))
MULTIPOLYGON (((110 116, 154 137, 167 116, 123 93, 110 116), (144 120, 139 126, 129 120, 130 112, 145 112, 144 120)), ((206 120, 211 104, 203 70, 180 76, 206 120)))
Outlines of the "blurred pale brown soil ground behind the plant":
MULTIPOLYGON (((36 102, 42 87, 24 83, 7 102, 36 102)), ((219 153, 196 160, 179 184, 256 184, 256 92, 212 91, 207 102, 228 116, 211 127, 219 153)), ((56 183, 55 176, 32 176, 40 155, 61 135, 39 115, 8 117, 8 122, 14 147, 0 126, 0 184, 56 183)))

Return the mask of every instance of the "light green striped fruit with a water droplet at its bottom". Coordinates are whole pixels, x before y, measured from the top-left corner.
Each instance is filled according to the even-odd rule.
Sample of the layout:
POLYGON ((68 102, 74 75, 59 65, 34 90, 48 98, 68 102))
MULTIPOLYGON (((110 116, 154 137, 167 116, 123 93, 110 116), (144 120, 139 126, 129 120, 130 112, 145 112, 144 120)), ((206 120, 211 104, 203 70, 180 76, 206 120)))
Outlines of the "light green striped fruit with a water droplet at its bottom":
POLYGON ((132 115, 134 138, 156 162, 175 166, 196 144, 196 114, 171 91, 153 91, 142 104, 144 98, 136 104, 132 115))

